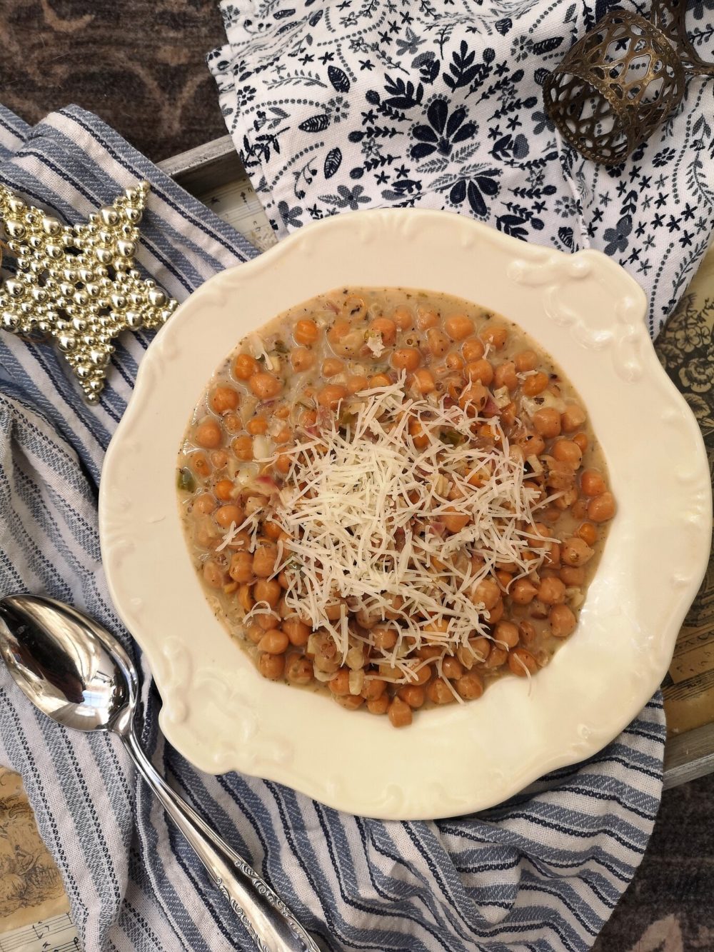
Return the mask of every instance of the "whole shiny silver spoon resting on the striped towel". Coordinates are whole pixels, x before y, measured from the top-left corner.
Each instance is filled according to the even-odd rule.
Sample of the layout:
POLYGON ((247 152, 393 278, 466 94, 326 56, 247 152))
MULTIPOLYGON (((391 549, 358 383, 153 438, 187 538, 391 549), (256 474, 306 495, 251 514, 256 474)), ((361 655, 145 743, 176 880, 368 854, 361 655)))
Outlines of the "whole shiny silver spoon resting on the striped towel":
POLYGON ((228 899, 260 952, 320 952, 288 906, 159 776, 134 729, 138 676, 124 648, 81 611, 36 595, 0 599, 0 657, 32 704, 76 730, 110 730, 228 899))

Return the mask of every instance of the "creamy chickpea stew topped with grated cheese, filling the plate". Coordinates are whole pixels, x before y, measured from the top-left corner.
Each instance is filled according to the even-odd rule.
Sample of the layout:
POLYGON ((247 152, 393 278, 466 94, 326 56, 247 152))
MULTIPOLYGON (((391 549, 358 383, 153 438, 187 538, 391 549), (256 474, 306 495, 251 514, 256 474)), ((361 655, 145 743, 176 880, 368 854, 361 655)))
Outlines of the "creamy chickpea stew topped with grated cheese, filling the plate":
POLYGON ((177 486, 210 604, 261 674, 396 727, 547 664, 616 511, 548 355, 404 288, 331 291, 249 334, 177 486))

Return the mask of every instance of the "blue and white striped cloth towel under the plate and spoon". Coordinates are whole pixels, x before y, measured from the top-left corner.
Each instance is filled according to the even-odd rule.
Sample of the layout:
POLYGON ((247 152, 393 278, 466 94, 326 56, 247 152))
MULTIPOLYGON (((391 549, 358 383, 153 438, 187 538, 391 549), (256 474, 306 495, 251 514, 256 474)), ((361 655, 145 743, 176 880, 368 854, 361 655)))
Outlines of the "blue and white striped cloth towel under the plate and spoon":
MULTIPOLYGON (((0 109, 0 181, 68 222, 152 184, 139 260, 184 298, 255 249, 81 109, 30 129, 0 109)), ((98 406, 50 347, 0 332, 0 592, 43 592, 122 637, 97 536, 102 456, 148 345, 127 334, 98 406)), ((154 764, 335 952, 585 950, 640 863, 660 800, 658 697, 605 751, 478 816, 380 823, 276 783, 198 773, 157 731, 154 764)), ((0 762, 25 780, 88 952, 248 950, 248 936, 113 739, 52 724, 0 671, 0 762)))

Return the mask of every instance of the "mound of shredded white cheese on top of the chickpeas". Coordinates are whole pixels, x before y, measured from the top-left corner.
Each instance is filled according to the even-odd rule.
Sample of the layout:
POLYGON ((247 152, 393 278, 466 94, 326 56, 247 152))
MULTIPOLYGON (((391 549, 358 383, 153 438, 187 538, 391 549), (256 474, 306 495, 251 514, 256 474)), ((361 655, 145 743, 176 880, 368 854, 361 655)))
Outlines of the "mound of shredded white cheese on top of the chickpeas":
POLYGON ((354 645, 374 645, 375 623, 391 626, 397 640, 382 652, 380 676, 415 680, 426 662, 406 657, 414 647, 437 645, 444 657, 469 637, 489 637, 478 586, 496 564, 522 577, 545 558, 534 526, 539 493, 524 485, 521 454, 509 451, 498 417, 468 409, 410 399, 404 377, 357 394, 317 435, 281 449, 292 463, 279 494, 231 525, 218 548, 246 528, 254 547, 269 516, 289 536, 275 572, 286 572, 288 608, 327 629, 343 660, 354 645), (495 446, 475 436, 486 423, 495 446), (449 516, 465 525, 448 531, 449 516))

